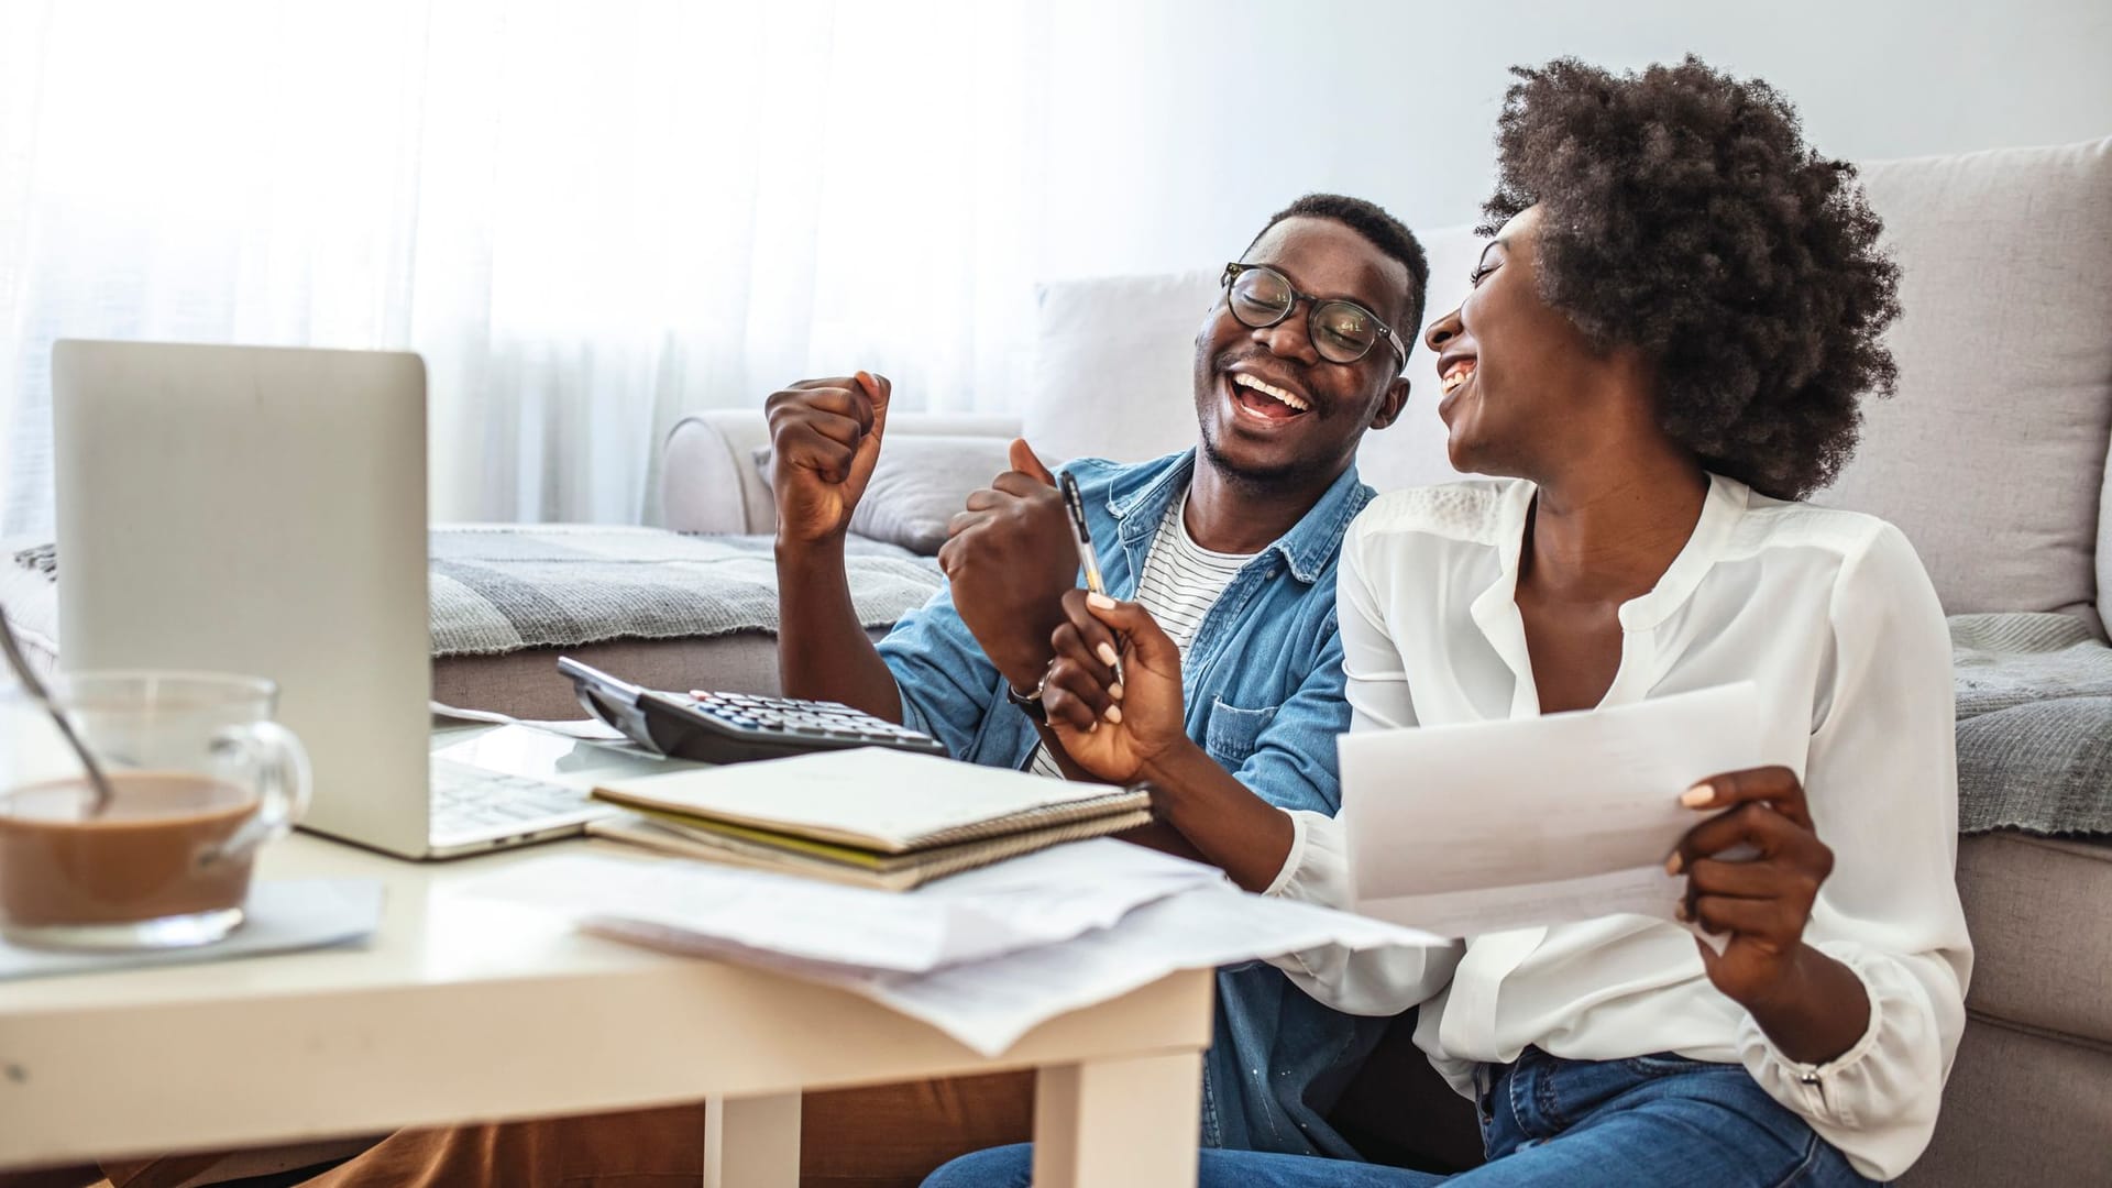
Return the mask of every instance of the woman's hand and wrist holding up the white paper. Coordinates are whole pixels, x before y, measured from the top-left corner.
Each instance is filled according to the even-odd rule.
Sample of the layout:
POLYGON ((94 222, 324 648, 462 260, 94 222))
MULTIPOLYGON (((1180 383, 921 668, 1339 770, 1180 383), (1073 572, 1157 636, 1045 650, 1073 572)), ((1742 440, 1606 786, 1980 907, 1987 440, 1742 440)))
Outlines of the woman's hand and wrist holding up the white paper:
POLYGON ((1812 903, 1833 873, 1804 782, 1789 767, 1753 767, 1711 776, 1679 803, 1715 814, 1690 829, 1664 865, 1687 875, 1681 920, 1730 934, 1721 953, 1696 941, 1709 981, 1793 1059, 1842 1055, 1869 1023, 1869 996, 1854 970, 1804 943, 1812 903), (1717 858, 1736 846, 1753 858, 1717 858))

